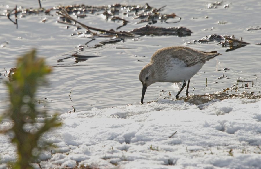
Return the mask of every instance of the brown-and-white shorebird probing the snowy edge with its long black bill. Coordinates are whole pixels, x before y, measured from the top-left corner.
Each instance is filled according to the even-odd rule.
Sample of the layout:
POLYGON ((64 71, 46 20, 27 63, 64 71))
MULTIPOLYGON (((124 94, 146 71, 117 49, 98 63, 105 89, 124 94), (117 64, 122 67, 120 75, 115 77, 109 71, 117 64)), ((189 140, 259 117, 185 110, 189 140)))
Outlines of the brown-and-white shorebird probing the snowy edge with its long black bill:
POLYGON ((152 56, 150 62, 144 66, 139 74, 142 82, 141 104, 145 92, 156 82, 183 82, 180 91, 176 95, 179 98, 180 92, 185 88, 186 96, 189 97, 189 82, 201 67, 208 61, 220 55, 217 51, 198 51, 190 47, 176 46, 158 49, 152 56))

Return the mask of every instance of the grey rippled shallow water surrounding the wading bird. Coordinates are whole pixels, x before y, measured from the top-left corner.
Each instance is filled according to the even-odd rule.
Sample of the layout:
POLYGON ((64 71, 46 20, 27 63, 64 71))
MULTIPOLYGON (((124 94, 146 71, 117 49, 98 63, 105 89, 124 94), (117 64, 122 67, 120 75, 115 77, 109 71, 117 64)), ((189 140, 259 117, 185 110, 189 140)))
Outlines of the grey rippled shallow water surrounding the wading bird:
MULTIPOLYGON (((59 4, 82 4, 86 1, 63 1, 55 3, 50 0, 42 1, 44 8, 52 8, 59 4)), ((118 1, 120 2, 120 1, 118 1)), ((126 104, 139 104, 141 97, 142 85, 138 79, 139 72, 146 65, 151 55, 162 47, 167 46, 189 46, 202 51, 218 51, 222 55, 208 61, 191 79, 190 94, 205 94, 215 91, 223 91, 231 88, 237 83, 238 79, 252 81, 249 83, 249 89, 240 88, 237 92, 254 91, 258 93, 261 89, 261 30, 247 31, 247 28, 261 26, 260 11, 261 2, 256 1, 223 1, 221 6, 215 9, 208 9, 208 3, 214 1, 146 1, 149 5, 160 8, 167 5, 162 13, 176 13, 182 18, 181 22, 175 24, 156 23, 153 26, 160 27, 178 27, 184 26, 191 29, 191 36, 143 36, 141 38, 126 39, 124 42, 116 44, 106 44, 103 47, 90 49, 86 45, 83 51, 79 51, 82 55, 96 55, 102 57, 89 58, 86 61, 75 63, 75 59, 64 59, 77 51, 77 45, 88 42, 88 38, 79 38, 77 35, 70 36, 74 31, 74 27, 70 26, 66 29, 64 24, 57 24, 58 15, 30 15, 18 19, 18 29, 10 22, 7 17, 0 16, 0 107, 1 111, 6 106, 7 91, 3 85, 5 70, 15 66, 16 58, 32 47, 37 48, 38 55, 46 58, 46 62, 53 67, 53 73, 48 77, 49 85, 41 87, 37 100, 41 99, 44 103, 39 105, 43 109, 51 111, 59 111, 65 113, 72 111, 72 106, 76 111, 88 110, 92 107, 104 108, 126 104), (223 8, 223 5, 229 5, 229 8, 223 8), (207 16, 207 18, 206 18, 207 16), (47 18, 45 23, 40 22, 44 17, 47 18), (218 24, 227 22, 226 24, 218 24), (212 28, 212 30, 209 30, 212 28), (207 30, 204 30, 207 29, 207 30), (245 47, 225 52, 228 48, 222 48, 216 42, 209 44, 187 44, 191 40, 199 40, 204 36, 218 35, 235 35, 237 39, 243 38, 243 41, 250 43, 245 47), (21 38, 18 38, 21 37, 21 38), (6 44, 8 41, 8 44, 6 44), (124 49, 127 48, 127 49, 124 49), (57 62, 64 59, 63 62, 57 62), (141 60, 143 62, 139 62, 141 60), (230 70, 225 72, 223 69, 227 67, 230 70), (221 71, 217 71, 217 70, 221 71), (229 79, 221 78, 228 76, 229 79), (207 87, 206 87, 206 78, 207 87), (213 83, 213 82, 218 83, 213 83), (195 90, 193 91, 193 87, 195 90), (70 101, 69 93, 71 92, 70 101), (193 91, 193 92, 192 92, 193 91), (48 98, 48 99, 44 99, 48 98)), ((88 5, 108 5, 117 3, 117 1, 88 1, 88 5)), ((122 3, 122 2, 121 2, 122 3)), ((125 1, 127 4, 140 4, 139 1, 125 1)), ((145 3, 145 2, 144 2, 145 3)), ((15 5, 26 8, 38 8, 37 1, 6 2, 0 1, 0 13, 6 9, 6 5, 14 8, 15 5)), ((141 4, 144 5, 144 4, 141 4)), ((146 23, 135 25, 131 21, 127 26, 120 30, 130 31, 146 25, 146 23)), ((80 22, 102 29, 116 29, 120 23, 104 21, 100 15, 90 15, 84 19, 78 19, 80 22)), ((83 31, 83 30, 79 30, 83 31)), ((88 46, 94 46, 98 42, 106 40, 106 38, 97 38, 90 42, 88 46)), ((238 85, 243 85, 240 82, 238 85)), ((247 82, 246 82, 247 83, 247 82)), ((168 91, 174 97, 178 91, 176 85, 172 83, 155 83, 151 85, 146 92, 144 101, 148 102, 159 97, 167 95, 168 91), (165 92, 162 93, 161 90, 165 92)), ((180 96, 185 96, 185 90, 180 96)), ((231 93, 231 91, 228 91, 231 93)), ((232 90, 235 94, 235 91, 232 90)))

